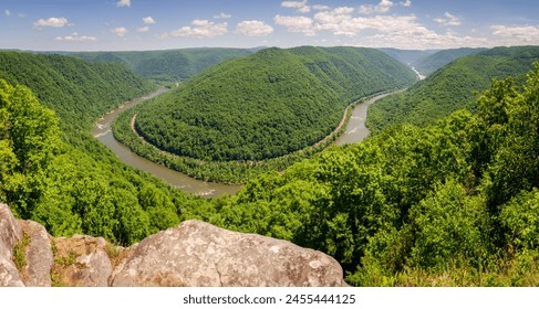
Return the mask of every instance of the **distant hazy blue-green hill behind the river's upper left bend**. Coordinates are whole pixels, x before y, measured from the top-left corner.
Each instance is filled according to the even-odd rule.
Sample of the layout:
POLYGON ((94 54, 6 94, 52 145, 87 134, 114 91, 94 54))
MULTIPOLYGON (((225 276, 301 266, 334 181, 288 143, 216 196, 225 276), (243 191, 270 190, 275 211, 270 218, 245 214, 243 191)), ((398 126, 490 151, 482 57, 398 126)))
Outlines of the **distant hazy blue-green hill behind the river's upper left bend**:
POLYGON ((144 52, 69 53, 89 62, 124 63, 157 82, 183 82, 222 61, 246 56, 251 50, 185 49, 144 52))

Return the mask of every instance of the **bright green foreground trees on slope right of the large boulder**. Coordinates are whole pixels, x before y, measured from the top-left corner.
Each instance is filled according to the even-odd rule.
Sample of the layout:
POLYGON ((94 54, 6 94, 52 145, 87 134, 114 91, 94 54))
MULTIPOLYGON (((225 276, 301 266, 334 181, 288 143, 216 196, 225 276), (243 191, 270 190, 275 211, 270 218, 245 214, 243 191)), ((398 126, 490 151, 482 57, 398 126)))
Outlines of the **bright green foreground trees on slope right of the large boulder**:
POLYGON ((539 64, 477 114, 397 126, 249 182, 210 222, 334 256, 365 286, 537 286, 539 64))

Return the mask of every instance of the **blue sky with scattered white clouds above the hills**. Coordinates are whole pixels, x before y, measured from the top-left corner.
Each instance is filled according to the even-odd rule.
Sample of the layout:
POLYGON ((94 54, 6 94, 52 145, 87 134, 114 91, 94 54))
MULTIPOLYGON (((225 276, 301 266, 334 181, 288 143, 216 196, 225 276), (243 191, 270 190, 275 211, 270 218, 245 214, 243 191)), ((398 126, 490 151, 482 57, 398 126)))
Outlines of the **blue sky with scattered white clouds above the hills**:
POLYGON ((537 0, 1 0, 0 49, 539 45, 537 0))

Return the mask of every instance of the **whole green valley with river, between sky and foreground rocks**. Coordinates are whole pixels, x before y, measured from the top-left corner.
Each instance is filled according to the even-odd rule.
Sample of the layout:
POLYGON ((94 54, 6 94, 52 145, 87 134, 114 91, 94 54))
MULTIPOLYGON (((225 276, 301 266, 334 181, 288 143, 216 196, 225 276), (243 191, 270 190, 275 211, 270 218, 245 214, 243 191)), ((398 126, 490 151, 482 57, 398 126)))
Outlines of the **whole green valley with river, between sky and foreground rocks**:
POLYGON ((0 202, 53 237, 290 241, 353 286, 539 284, 537 46, 206 52, 186 81, 0 52, 0 202))

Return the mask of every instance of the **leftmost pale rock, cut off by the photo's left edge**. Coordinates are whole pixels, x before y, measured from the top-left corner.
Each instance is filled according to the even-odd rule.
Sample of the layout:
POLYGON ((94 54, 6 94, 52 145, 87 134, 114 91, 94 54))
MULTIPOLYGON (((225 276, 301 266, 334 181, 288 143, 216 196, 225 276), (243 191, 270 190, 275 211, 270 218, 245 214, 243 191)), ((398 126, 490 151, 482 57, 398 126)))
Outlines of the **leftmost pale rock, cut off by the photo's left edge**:
POLYGON ((13 248, 22 237, 22 231, 11 210, 0 204, 0 287, 24 286, 13 263, 13 248))

